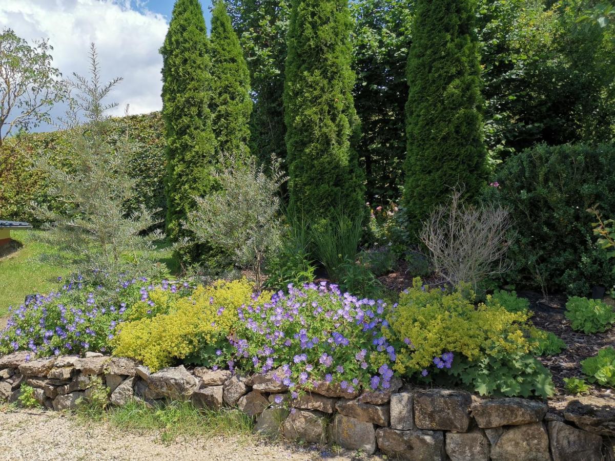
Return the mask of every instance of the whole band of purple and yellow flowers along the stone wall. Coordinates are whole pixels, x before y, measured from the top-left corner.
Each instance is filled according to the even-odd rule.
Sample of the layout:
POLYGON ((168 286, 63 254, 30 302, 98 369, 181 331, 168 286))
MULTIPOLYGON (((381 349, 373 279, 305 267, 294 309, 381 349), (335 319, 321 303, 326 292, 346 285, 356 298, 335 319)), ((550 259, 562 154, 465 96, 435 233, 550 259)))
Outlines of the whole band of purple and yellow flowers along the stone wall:
POLYGON ((532 356, 541 336, 515 296, 475 305, 471 293, 429 290, 419 279, 392 305, 327 282, 252 293, 246 280, 194 287, 138 279, 97 290, 77 281, 15 310, 0 353, 113 352, 152 371, 180 363, 280 369, 275 379, 297 395, 320 381, 349 395, 386 390, 395 374, 481 395, 552 393, 532 356))

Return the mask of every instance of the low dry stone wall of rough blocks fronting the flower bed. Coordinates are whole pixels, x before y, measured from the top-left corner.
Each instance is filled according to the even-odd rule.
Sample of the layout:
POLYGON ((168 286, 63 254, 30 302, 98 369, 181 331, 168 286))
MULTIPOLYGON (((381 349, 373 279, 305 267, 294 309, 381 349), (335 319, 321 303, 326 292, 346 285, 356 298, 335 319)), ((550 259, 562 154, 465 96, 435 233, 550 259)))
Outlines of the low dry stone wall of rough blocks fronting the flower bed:
POLYGON ((242 377, 177 366, 151 373, 134 360, 98 353, 28 360, 16 352, 0 357, 0 398, 17 401, 26 384, 45 408, 74 410, 89 397, 92 382, 103 382, 113 405, 191 400, 199 408, 236 406, 263 435, 379 450, 402 460, 602 460, 608 459, 605 441, 615 436, 615 399, 577 398, 554 414, 541 401, 479 399, 392 380, 387 392, 362 394, 317 382, 293 400, 276 372, 242 377))

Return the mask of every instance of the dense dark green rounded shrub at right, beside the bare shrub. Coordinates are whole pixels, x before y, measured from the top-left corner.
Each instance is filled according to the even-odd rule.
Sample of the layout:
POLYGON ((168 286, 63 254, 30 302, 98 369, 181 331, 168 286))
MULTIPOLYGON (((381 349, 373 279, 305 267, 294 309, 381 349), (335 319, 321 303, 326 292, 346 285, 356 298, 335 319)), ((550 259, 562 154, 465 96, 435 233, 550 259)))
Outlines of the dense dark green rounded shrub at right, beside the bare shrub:
POLYGON ((613 144, 540 145, 506 160, 498 171, 499 187, 488 194, 515 217, 517 239, 507 275, 517 286, 563 290, 586 295, 593 285, 615 282, 605 251, 592 236, 592 216, 585 210, 600 203, 615 215, 615 146, 613 144))

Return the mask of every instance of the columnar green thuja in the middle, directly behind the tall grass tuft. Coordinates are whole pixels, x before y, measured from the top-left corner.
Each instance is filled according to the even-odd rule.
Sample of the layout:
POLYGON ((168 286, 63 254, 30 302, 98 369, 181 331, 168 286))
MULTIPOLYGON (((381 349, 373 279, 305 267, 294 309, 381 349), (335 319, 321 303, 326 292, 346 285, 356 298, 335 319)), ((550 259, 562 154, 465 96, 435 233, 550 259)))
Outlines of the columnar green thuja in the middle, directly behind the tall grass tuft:
POLYGON ((312 221, 363 209, 346 0, 294 0, 284 88, 289 207, 312 221))

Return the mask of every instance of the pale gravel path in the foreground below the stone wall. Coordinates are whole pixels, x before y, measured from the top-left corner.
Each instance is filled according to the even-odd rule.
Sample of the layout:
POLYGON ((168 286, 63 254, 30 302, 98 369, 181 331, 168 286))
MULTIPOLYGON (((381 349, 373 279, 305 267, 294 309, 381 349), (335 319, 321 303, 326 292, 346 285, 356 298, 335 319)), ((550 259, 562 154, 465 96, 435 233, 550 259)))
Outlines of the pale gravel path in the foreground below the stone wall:
POLYGON ((357 452, 335 454, 330 447, 213 437, 163 444, 153 433, 119 432, 108 424, 82 422, 57 412, 0 411, 0 459, 72 460, 319 460, 370 459, 357 452), (325 451, 323 451, 325 450, 325 451))

